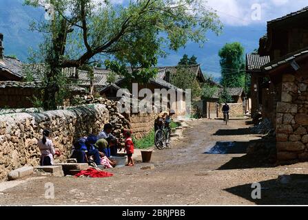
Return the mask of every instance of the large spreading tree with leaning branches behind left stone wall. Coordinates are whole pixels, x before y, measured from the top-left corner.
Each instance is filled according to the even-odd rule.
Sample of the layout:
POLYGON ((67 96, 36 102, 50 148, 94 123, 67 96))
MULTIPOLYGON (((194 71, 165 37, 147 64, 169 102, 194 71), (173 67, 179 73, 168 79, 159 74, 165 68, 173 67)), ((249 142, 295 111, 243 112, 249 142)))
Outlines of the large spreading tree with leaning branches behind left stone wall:
MULTIPOLYGON (((39 0, 25 0, 39 7, 39 0)), ((50 0, 51 21, 33 22, 45 41, 35 61, 46 64, 44 108, 56 109, 67 87, 61 69, 105 59, 107 68, 132 80, 148 80, 163 48, 178 50, 188 41, 203 43, 205 33, 222 25, 202 0, 136 0, 127 5, 108 0, 50 0), (133 74, 126 68, 130 65, 133 74)))

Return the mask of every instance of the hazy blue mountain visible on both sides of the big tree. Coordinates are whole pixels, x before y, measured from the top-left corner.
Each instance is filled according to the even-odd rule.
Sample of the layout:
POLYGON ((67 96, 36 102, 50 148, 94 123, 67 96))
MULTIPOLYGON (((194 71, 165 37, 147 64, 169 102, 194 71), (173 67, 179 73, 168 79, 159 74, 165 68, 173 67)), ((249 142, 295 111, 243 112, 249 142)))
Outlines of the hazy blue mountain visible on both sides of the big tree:
MULTIPOLYGON (((23 0, 0 0, 0 32, 4 34, 5 54, 16 55, 21 61, 27 61, 28 48, 37 46, 42 37, 37 32, 30 32, 29 23, 33 19, 44 19, 43 8, 23 6, 23 0)), ((209 32, 207 43, 200 48, 196 43, 188 43, 178 52, 170 52, 167 58, 160 58, 158 65, 177 65, 183 54, 195 55, 201 63, 203 72, 212 75, 216 80, 220 77, 218 51, 225 43, 238 41, 246 52, 258 48, 258 40, 266 32, 266 25, 226 26, 223 34, 216 36, 209 32)))

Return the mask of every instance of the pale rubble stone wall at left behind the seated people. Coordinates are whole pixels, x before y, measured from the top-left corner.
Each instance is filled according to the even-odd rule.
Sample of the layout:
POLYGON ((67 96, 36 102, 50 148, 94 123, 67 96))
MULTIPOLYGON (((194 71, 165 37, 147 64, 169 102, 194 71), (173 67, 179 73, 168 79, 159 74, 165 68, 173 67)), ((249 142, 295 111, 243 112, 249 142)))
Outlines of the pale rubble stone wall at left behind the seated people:
POLYGON ((51 138, 63 154, 55 159, 64 162, 70 156, 76 138, 99 133, 109 120, 109 111, 103 104, 43 113, 0 115, 0 179, 5 179, 12 169, 39 164, 37 142, 43 129, 52 131, 51 138))

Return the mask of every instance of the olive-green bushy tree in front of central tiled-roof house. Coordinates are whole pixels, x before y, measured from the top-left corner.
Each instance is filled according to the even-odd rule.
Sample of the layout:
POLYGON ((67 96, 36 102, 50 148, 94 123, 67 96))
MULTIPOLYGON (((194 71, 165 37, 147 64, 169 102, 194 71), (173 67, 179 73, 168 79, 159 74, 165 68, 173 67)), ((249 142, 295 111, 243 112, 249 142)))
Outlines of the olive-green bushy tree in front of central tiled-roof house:
POLYGON ((201 87, 196 76, 187 72, 185 67, 178 67, 176 74, 171 78, 171 83, 181 89, 192 89, 192 100, 201 96, 201 87))

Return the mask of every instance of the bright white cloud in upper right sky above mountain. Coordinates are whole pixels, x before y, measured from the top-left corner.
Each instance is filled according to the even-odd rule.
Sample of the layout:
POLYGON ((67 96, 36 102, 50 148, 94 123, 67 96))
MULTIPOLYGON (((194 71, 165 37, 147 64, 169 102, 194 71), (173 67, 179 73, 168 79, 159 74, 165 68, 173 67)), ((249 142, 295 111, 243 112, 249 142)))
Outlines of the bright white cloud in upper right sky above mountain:
POLYGON ((217 10, 220 20, 225 25, 250 25, 265 23, 272 19, 295 12, 308 5, 307 0, 204 0, 205 4, 217 10), (254 10, 251 5, 260 4, 260 20, 251 19, 254 10))

